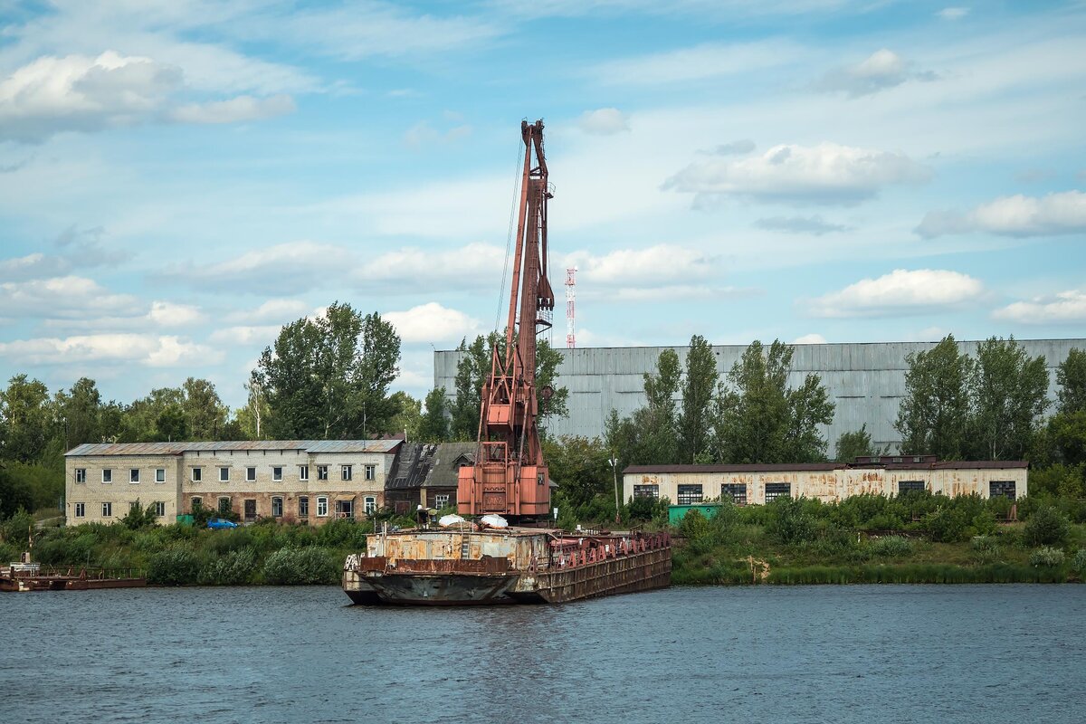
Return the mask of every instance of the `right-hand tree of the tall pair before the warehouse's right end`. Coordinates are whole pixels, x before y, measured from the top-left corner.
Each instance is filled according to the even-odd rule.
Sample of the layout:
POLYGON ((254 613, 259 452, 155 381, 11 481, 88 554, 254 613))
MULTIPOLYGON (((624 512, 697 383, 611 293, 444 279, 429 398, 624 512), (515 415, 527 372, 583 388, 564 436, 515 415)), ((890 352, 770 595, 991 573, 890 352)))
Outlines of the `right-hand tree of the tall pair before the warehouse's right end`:
POLYGON ((1049 405, 1045 357, 995 336, 976 348, 969 380, 971 434, 963 452, 987 460, 1021 459, 1049 405))

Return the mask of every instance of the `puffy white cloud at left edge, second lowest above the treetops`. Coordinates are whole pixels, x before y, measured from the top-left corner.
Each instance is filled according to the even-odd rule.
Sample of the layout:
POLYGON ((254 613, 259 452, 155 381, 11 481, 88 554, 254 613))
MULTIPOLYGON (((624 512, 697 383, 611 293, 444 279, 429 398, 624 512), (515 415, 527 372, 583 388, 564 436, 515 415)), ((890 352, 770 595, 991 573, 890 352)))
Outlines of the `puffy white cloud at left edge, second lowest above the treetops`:
POLYGON ((0 283, 0 309, 24 317, 89 318, 103 314, 143 313, 128 294, 111 294, 91 279, 53 277, 0 283))

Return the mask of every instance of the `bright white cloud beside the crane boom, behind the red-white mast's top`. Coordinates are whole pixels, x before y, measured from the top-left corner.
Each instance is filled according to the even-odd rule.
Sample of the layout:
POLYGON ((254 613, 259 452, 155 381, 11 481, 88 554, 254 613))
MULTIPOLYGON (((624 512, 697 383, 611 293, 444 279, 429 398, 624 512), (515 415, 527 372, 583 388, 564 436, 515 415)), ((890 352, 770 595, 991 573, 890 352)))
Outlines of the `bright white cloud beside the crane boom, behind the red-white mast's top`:
POLYGON ((673 244, 618 249, 602 256, 588 251, 573 252, 567 255, 565 266, 578 268, 579 281, 608 285, 660 287, 719 275, 716 257, 673 244))

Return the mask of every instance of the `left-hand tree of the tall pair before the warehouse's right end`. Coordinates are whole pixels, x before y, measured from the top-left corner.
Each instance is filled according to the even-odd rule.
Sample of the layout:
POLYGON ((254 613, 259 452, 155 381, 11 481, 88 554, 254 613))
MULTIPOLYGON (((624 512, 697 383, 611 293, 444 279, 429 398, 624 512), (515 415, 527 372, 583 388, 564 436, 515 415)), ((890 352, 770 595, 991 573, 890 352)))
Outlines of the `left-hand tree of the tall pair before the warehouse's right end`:
POLYGON ((961 459, 969 424, 967 384, 973 361, 952 334, 926 352, 906 355, 905 397, 895 428, 906 455, 961 459))

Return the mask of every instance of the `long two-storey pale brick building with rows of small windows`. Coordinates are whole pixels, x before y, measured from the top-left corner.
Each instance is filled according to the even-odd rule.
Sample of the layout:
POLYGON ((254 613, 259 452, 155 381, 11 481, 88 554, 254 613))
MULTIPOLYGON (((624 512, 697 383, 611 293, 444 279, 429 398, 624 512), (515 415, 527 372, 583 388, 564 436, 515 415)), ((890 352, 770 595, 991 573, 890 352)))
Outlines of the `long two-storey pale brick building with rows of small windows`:
POLYGON ((136 501, 164 521, 194 504, 243 520, 321 524, 386 505, 401 440, 88 443, 64 456, 65 520, 113 522, 136 501))

